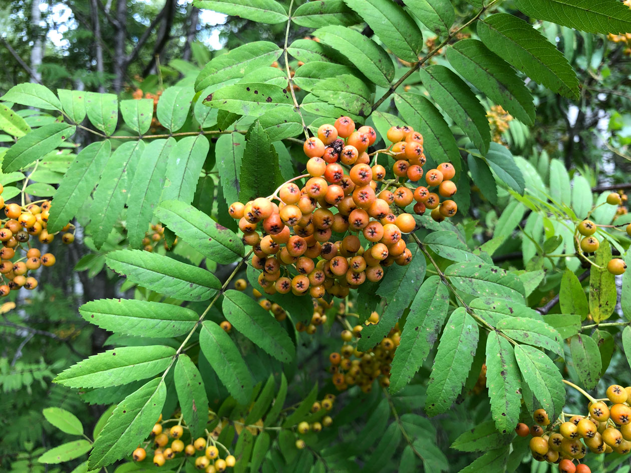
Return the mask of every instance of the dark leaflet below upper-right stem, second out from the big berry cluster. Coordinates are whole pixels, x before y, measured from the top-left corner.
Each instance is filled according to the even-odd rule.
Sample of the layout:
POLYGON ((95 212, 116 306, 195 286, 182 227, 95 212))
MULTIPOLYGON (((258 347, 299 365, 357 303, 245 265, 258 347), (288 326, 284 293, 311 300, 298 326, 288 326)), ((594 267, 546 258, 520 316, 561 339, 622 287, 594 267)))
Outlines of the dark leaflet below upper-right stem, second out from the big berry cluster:
POLYGON ((491 141, 487 112, 469 86, 445 66, 425 67, 419 73, 435 102, 485 155, 491 141))

